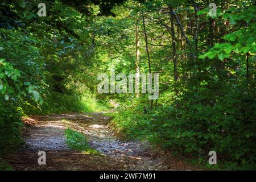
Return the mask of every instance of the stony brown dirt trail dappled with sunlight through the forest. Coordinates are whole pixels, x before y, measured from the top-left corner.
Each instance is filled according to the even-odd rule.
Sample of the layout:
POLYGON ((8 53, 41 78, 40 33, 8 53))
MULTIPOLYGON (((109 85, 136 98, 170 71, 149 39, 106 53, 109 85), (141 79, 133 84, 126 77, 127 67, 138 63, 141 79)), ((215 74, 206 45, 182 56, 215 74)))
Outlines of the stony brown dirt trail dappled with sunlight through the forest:
POLYGON ((101 113, 55 114, 27 119, 25 146, 6 160, 17 170, 193 170, 179 159, 151 150, 147 143, 121 141, 108 128, 101 113), (68 148, 64 130, 84 133, 90 147, 102 156, 68 148), (46 165, 38 164, 38 151, 46 151, 46 165))

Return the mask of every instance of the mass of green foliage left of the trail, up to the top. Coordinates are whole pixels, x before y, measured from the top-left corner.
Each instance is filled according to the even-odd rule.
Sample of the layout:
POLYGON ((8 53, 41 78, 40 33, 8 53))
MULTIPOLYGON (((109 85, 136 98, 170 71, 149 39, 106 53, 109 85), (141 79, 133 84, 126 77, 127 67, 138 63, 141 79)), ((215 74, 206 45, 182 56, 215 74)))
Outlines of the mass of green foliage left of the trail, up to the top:
POLYGON ((78 92, 75 84, 79 80, 85 85, 81 73, 91 67, 91 40, 84 28, 90 19, 81 18, 74 7, 47 2, 48 17, 35 20, 38 16, 32 9, 37 5, 36 1, 26 5, 24 1, 1 2, 0 153, 15 151, 22 143, 23 112, 105 109, 89 88, 78 92))

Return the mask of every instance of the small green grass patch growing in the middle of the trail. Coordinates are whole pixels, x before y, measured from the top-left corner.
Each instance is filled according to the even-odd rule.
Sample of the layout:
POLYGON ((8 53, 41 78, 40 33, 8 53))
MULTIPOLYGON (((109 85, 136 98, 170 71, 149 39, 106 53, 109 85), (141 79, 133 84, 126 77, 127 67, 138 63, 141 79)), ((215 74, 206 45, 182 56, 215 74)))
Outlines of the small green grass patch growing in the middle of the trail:
POLYGON ((69 148, 84 152, 85 154, 101 155, 99 151, 89 147, 85 134, 68 128, 65 130, 65 137, 67 138, 69 148))

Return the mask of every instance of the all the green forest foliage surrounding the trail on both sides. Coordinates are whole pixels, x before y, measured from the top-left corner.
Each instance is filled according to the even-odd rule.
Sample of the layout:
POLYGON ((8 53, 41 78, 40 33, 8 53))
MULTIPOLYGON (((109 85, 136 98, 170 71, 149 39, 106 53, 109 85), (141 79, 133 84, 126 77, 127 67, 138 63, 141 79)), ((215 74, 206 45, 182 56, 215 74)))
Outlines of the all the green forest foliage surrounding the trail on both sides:
MULTIPOLYGON (((255 3, 214 2, 216 17, 201 0, 46 1, 47 16, 38 18, 37 1, 2 1, 1 152, 22 143, 20 108, 26 114, 102 111, 111 98, 121 102, 113 125, 123 138, 148 139, 200 164, 214 150, 218 166, 209 168, 255 169, 255 3), (140 72, 160 73, 152 110, 147 94, 95 94, 98 73, 136 72, 136 39, 140 72)), ((65 134, 71 148, 90 150, 83 134, 65 134)))

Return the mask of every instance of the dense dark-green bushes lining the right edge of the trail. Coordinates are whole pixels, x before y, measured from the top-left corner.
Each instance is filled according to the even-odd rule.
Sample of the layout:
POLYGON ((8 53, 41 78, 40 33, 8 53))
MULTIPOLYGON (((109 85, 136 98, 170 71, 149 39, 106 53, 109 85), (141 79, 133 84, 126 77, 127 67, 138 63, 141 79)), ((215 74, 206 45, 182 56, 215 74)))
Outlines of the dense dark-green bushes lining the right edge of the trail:
POLYGON ((224 85, 221 93, 211 92, 207 84, 191 88, 176 106, 147 114, 142 107, 126 106, 114 123, 127 139, 148 139, 194 159, 207 159, 213 150, 223 168, 229 163, 232 169, 255 169, 255 90, 244 84, 224 85))

